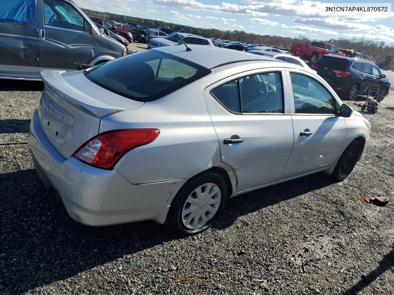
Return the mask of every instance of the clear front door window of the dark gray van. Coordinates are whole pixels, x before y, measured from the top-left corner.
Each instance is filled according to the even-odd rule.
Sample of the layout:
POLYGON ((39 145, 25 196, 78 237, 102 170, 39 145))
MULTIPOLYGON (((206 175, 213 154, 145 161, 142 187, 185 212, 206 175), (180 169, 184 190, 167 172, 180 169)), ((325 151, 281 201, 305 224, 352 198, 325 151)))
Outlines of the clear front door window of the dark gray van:
POLYGON ((44 0, 44 23, 47 26, 85 31, 85 19, 68 2, 44 0))

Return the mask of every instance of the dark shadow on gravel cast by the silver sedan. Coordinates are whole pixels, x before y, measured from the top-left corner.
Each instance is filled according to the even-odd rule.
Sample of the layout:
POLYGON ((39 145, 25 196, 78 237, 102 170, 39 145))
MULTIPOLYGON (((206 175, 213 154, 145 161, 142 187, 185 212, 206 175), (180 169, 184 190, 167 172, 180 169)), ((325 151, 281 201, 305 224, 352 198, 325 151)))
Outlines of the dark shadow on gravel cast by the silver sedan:
MULTIPOLYGON (((18 169, 0 174, 0 293, 26 293, 125 255, 182 239, 154 221, 106 227, 77 223, 48 193, 34 169, 18 169)), ((240 216, 330 184, 329 177, 316 174, 231 198, 213 231, 230 227, 240 216)))

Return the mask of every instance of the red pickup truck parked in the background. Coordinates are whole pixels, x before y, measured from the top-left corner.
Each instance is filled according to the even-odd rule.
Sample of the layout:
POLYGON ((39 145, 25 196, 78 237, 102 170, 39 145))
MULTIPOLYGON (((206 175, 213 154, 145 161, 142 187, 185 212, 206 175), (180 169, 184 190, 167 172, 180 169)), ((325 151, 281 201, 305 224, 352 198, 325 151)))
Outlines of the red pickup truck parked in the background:
POLYGON ((325 54, 346 56, 345 53, 338 51, 334 45, 324 42, 312 42, 310 45, 292 44, 290 47, 290 54, 307 59, 312 63, 317 61, 322 55, 325 54))

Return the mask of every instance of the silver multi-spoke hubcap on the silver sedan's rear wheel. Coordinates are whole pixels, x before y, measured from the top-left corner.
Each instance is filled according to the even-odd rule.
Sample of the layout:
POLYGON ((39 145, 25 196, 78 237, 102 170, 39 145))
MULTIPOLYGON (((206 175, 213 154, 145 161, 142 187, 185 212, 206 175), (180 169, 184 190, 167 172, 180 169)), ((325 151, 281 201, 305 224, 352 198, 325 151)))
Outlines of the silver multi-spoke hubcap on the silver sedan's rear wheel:
POLYGON ((198 229, 214 217, 219 209, 221 192, 214 183, 197 187, 186 199, 182 222, 188 229, 198 229))

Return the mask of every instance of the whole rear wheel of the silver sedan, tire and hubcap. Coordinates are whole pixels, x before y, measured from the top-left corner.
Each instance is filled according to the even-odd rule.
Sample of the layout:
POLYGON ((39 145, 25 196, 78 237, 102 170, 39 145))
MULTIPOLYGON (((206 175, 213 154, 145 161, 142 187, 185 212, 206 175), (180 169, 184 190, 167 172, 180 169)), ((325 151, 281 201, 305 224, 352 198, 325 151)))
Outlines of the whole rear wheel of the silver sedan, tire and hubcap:
POLYGON ((199 234, 214 224, 226 201, 227 184, 220 174, 209 172, 198 175, 184 184, 175 196, 167 215, 167 226, 178 235, 199 234), (208 188, 211 194, 215 188, 218 192, 215 192, 211 197, 208 194, 208 199, 204 199, 204 190, 208 188), (200 190, 202 194, 199 199, 195 191, 200 190), (187 200, 191 200, 193 203, 187 202, 187 200), (210 205, 207 201, 211 201, 210 205), (191 209, 190 213, 185 211, 193 205, 195 208, 191 209), (208 207, 210 207, 209 210, 208 207), (214 212, 213 215, 212 212, 214 212))

